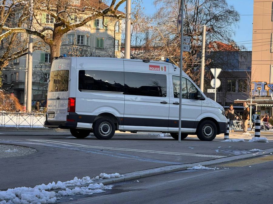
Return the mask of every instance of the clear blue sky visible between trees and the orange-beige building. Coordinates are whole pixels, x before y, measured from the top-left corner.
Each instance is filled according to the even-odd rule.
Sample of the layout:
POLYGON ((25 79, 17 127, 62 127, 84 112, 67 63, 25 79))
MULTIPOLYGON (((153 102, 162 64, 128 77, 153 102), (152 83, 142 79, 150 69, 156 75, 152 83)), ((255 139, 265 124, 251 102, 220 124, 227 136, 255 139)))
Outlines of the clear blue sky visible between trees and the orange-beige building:
MULTIPOLYGON (((241 18, 240 23, 234 27, 234 41, 238 45, 244 44, 248 50, 252 50, 253 0, 227 0, 227 3, 234 6, 241 18)), ((143 6, 146 14, 155 12, 152 0, 143 0, 143 6)))

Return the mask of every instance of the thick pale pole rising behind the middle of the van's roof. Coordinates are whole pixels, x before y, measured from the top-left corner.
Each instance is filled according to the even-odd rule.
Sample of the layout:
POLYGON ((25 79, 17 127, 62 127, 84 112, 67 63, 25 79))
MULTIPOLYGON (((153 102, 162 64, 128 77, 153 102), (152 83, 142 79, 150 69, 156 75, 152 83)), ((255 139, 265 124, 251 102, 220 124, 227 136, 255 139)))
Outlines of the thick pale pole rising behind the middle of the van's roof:
POLYGON ((131 0, 126 0, 124 59, 130 59, 130 53, 131 53, 131 0))

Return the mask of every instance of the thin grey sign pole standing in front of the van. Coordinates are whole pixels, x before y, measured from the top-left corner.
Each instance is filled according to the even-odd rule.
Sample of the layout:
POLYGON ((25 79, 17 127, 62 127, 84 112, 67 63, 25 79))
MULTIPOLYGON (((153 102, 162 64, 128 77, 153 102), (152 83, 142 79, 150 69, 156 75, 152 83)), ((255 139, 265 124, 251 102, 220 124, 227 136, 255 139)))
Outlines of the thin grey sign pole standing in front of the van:
POLYGON ((178 122, 178 142, 181 142, 181 111, 182 111, 182 72, 183 72, 183 34, 184 34, 184 0, 181 0, 181 39, 180 39, 180 79, 179 79, 179 122, 178 122))

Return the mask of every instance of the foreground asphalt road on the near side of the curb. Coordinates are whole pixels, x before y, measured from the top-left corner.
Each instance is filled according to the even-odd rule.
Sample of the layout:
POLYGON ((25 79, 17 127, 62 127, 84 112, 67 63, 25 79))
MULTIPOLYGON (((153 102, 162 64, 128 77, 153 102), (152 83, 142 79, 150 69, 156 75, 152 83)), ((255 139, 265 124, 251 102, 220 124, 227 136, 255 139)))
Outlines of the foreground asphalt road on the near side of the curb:
POLYGON ((114 184, 106 193, 65 203, 272 203, 273 156, 114 184), (239 166, 239 167, 238 167, 239 166), (249 167, 251 166, 251 167, 249 167), (226 169, 224 169, 226 168, 226 169), (228 168, 228 169, 227 169, 228 168))

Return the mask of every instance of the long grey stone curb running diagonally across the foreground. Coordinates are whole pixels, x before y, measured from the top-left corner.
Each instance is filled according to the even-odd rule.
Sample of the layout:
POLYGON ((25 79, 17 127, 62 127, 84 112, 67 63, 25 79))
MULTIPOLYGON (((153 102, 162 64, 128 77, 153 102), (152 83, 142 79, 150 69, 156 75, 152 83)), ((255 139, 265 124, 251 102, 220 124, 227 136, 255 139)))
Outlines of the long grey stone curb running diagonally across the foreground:
MULTIPOLYGON (((231 157, 224 157, 224 158, 220 158, 220 159, 197 162, 197 163, 192 163, 192 164, 169 165, 169 166, 165 166, 165 167, 135 171, 135 172, 130 172, 130 173, 123 173, 122 175, 124 175, 124 176, 122 176, 122 177, 94 181, 92 184, 102 183, 103 185, 108 185, 108 184, 118 183, 118 182, 122 182, 122 181, 140 179, 140 178, 145 178, 148 176, 156 176, 156 175, 160 175, 160 174, 164 174, 164 173, 171 173, 171 172, 186 170, 187 168, 197 166, 198 164, 200 164, 202 166, 210 166, 210 165, 221 164, 221 163, 225 163, 225 162, 231 162, 231 161, 236 161, 236 160, 259 157, 262 155, 267 155, 267 154, 273 153, 273 148, 266 149, 265 153, 260 153, 260 154, 257 154, 257 153, 260 153, 260 152, 256 152, 256 153, 253 152, 253 153, 236 155, 236 156, 231 156, 231 157)), ((75 187, 86 187, 86 186, 89 186, 89 184, 82 185, 82 186, 68 186, 67 188, 73 189, 75 187)), ((58 193, 58 191, 60 191, 60 190, 65 190, 65 189, 52 189, 51 191, 58 193)))

